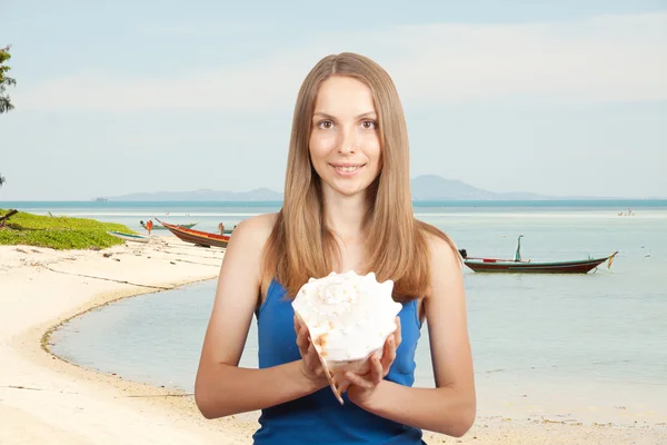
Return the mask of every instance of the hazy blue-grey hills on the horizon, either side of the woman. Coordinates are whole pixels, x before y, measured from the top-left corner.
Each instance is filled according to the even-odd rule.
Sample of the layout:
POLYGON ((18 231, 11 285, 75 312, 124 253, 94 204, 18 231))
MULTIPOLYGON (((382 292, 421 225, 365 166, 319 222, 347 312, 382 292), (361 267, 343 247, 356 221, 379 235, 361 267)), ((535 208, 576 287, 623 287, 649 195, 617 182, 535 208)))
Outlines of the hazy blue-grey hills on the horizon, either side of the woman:
MULTIPOLYGON (((554 197, 524 191, 498 194, 470 186, 460 180, 445 179, 437 175, 417 176, 410 181, 410 187, 412 199, 417 201, 619 199, 608 197, 554 197)), ((191 191, 138 192, 97 199, 109 201, 281 201, 282 194, 268 188, 258 188, 249 191, 200 189, 191 191)))

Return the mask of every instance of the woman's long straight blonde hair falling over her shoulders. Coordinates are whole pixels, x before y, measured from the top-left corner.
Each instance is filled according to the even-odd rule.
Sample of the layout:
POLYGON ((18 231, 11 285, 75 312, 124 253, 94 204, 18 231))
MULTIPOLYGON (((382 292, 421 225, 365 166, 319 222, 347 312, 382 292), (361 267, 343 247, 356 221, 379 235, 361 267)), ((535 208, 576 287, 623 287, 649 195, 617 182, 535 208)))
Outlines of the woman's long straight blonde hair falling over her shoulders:
POLYGON ((308 278, 327 276, 340 251, 323 218, 321 184, 309 155, 312 113, 320 85, 331 76, 366 83, 378 115, 381 165, 369 188, 369 227, 365 273, 394 280, 394 298, 419 298, 429 288, 427 234, 454 243, 412 211, 408 131, 398 91, 379 65, 344 52, 327 56, 308 73, 297 97, 287 160, 282 208, 265 246, 265 277, 275 278, 293 297, 308 278))

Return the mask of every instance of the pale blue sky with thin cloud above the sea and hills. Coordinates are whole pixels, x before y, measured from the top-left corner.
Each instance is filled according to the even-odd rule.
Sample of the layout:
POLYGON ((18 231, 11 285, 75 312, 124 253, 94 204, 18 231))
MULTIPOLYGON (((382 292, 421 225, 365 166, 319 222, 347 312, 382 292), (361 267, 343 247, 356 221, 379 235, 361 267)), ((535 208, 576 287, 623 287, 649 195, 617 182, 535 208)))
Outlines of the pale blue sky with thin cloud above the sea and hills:
POLYGON ((282 191, 295 100, 342 51, 392 77, 410 176, 667 197, 667 0, 0 0, 3 200, 282 191))

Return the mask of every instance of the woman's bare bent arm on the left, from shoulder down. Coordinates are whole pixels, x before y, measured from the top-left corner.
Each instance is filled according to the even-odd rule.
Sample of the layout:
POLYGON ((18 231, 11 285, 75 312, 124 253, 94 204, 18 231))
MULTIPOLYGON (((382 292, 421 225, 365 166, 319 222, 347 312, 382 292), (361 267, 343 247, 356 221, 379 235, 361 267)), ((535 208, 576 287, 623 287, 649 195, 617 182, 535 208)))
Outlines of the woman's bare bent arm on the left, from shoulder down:
POLYGON ((262 249, 273 215, 239 224, 220 269, 203 340, 195 399, 207 418, 261 409, 311 394, 327 385, 303 372, 302 360, 265 369, 239 368, 261 287, 262 249))

